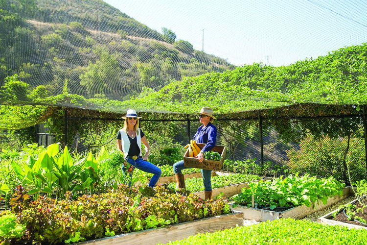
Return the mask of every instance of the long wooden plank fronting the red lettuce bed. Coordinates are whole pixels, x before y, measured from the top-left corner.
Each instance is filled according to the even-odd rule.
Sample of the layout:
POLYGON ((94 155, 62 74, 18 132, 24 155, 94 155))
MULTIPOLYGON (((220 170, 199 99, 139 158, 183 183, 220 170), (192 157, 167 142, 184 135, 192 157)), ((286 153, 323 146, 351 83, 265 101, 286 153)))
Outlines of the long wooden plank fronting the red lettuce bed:
POLYGON ((198 233, 215 232, 243 225, 243 214, 235 212, 197 221, 168 225, 157 229, 132 232, 128 234, 91 240, 78 245, 155 245, 182 240, 198 233))

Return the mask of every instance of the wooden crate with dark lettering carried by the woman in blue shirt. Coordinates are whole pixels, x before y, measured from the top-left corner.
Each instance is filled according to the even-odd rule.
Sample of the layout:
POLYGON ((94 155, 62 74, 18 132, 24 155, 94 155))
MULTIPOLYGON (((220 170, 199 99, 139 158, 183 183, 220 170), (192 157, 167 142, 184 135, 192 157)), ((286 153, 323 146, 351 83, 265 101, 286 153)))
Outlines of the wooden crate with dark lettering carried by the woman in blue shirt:
MULTIPOLYGON (((202 149, 206 144, 196 143, 200 149, 202 149)), ((213 171, 220 171, 223 166, 224 159, 226 158, 226 147, 224 146, 215 146, 211 149, 212 151, 218 152, 222 159, 220 161, 204 159, 203 162, 199 162, 197 158, 188 156, 188 148, 184 154, 184 166, 187 168, 196 168, 196 169, 206 169, 213 171)))

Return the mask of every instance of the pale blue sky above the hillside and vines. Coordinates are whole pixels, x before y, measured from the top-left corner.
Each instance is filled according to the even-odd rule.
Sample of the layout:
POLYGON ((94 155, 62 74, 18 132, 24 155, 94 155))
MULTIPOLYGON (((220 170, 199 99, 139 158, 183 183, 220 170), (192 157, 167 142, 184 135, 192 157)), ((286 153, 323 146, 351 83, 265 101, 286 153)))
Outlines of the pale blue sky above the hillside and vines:
POLYGON ((236 66, 289 65, 367 42, 367 0, 105 0, 236 66))

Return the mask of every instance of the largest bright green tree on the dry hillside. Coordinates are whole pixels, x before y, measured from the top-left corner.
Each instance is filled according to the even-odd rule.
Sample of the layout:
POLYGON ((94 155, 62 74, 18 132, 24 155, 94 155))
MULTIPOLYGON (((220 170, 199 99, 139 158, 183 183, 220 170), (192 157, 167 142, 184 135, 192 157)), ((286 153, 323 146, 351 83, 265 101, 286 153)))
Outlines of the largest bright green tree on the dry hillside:
POLYGON ((86 86, 87 94, 109 94, 119 82, 121 69, 114 55, 106 49, 97 49, 99 59, 95 63, 89 62, 86 71, 80 75, 80 85, 86 86))

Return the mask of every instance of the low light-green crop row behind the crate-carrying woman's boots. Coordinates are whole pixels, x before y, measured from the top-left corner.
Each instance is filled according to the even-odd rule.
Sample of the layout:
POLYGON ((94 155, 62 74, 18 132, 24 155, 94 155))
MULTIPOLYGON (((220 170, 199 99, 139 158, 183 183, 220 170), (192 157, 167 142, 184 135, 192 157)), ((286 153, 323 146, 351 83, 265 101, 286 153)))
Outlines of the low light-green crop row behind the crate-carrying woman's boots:
MULTIPOLYGON (((215 175, 211 177, 211 187, 220 188, 227 185, 258 180, 261 177, 252 174, 234 173, 230 175, 215 175)), ((176 183, 170 183, 169 186, 174 188, 176 183)), ((185 179, 186 189, 190 192, 204 191, 203 178, 185 179)))

